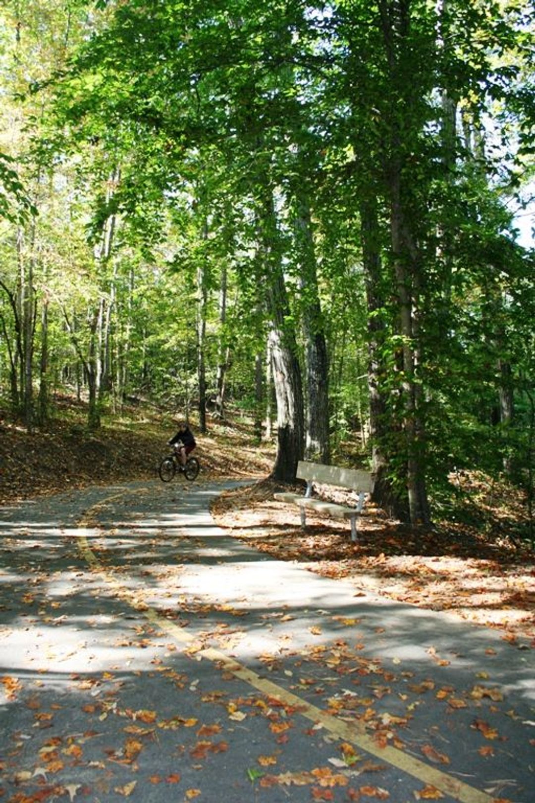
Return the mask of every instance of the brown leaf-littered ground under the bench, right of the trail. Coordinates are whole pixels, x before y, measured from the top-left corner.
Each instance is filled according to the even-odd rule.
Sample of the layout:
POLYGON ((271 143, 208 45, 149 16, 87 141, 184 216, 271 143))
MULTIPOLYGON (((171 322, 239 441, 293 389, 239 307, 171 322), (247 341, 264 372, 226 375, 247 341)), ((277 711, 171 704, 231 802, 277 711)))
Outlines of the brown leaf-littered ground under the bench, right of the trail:
POLYGON ((303 531, 298 508, 274 500, 278 487, 263 480, 226 491, 213 503, 217 524, 278 560, 347 578, 355 595, 373 592, 446 610, 500 629, 515 646, 535 646, 535 556, 528 544, 461 524, 409 528, 373 506, 365 508, 353 544, 347 522, 313 511, 303 531))

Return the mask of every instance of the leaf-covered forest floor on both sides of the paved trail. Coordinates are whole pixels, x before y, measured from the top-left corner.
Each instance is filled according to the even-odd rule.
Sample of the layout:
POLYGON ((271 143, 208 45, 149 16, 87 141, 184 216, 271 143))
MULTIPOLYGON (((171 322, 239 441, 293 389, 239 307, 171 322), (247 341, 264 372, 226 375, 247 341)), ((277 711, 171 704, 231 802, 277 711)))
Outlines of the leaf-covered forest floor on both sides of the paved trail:
MULTIPOLYGON (((64 399, 49 430, 30 435, 0 413, 0 505, 91 484, 156 479, 174 434, 172 418, 132 409, 88 436, 83 415, 82 404, 64 399)), ((415 530, 368 507, 352 544, 347 522, 310 513, 303 532, 297 508, 274 502, 275 485, 267 479, 274 446, 255 445, 245 417, 209 420, 208 434, 197 443, 201 479, 253 479, 213 505, 217 524, 233 536, 322 576, 347 578, 356 597, 371 590, 448 611, 500 629, 521 648, 535 647, 535 554, 510 537, 526 516, 516 491, 490 486, 481 476, 461 478, 477 526, 436 522, 415 530)))

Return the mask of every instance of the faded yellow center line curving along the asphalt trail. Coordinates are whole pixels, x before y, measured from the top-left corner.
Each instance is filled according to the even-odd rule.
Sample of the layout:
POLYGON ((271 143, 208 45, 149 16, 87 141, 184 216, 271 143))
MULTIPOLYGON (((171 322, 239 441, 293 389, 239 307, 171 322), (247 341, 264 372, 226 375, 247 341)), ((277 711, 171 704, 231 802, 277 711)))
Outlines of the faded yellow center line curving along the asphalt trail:
MULTIPOLYGON (((120 494, 104 499, 102 502, 94 505, 85 512, 83 520, 79 520, 77 525, 80 528, 88 528, 97 526, 95 524, 95 516, 101 507, 124 495, 124 493, 132 493, 134 491, 123 491, 120 494)), ((137 491, 136 491, 137 492, 137 491)), ((187 633, 184 628, 169 622, 168 619, 160 616, 159 613, 153 608, 149 608, 146 604, 136 600, 135 593, 128 590, 114 577, 113 573, 108 570, 103 564, 100 563, 95 552, 92 551, 89 541, 86 536, 79 536, 77 544, 81 556, 87 561, 87 564, 100 573, 108 585, 116 589, 117 596, 125 601, 132 608, 136 609, 138 613, 142 614, 144 618, 148 619, 152 625, 156 625, 160 630, 164 630, 176 642, 180 642, 185 646, 193 646, 196 642, 195 634, 187 633)), ((418 781, 430 786, 434 786, 441 793, 449 795, 460 803, 496 803, 496 798, 491 797, 486 792, 475 787, 470 786, 464 781, 459 781, 456 777, 449 775, 448 772, 443 772, 440 769, 426 764, 424 761, 411 756, 399 748, 393 748, 390 745, 381 747, 375 742, 372 736, 366 732, 365 726, 359 722, 346 722, 338 717, 322 711, 321 708, 314 706, 312 703, 307 703, 298 695, 293 692, 287 691, 285 688, 278 686, 277 683, 262 678, 260 675, 246 666, 241 665, 234 658, 230 658, 220 650, 215 650, 213 647, 201 647, 195 651, 196 656, 201 656, 220 668, 232 673, 235 677, 248 683, 249 686, 257 689, 262 694, 277 699, 279 702, 288 706, 294 707, 299 714, 306 719, 310 719, 315 725, 321 725, 326 731, 330 732, 338 739, 347 741, 354 744, 361 750, 365 750, 372 756, 375 756, 391 764, 407 775, 411 775, 418 781)))

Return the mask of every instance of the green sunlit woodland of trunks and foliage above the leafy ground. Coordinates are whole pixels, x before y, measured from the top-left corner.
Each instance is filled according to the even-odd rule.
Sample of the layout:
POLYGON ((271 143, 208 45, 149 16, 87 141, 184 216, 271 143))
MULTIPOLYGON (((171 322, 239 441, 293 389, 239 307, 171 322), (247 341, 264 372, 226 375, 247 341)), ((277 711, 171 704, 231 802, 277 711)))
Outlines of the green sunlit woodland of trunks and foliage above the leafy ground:
POLYGON ((26 426, 64 385, 91 427, 143 395, 267 437, 276 406, 276 479, 370 466, 413 524, 458 471, 533 498, 532 2, 0 14, 0 390, 26 426))

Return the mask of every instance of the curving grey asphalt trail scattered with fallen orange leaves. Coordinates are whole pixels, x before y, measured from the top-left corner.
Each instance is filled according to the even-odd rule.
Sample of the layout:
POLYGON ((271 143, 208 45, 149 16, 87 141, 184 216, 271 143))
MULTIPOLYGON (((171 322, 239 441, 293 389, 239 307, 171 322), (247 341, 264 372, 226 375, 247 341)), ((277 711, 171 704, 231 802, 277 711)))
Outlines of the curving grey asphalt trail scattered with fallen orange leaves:
POLYGON ((0 511, 0 799, 533 803, 533 650, 225 537, 223 487, 0 511))

